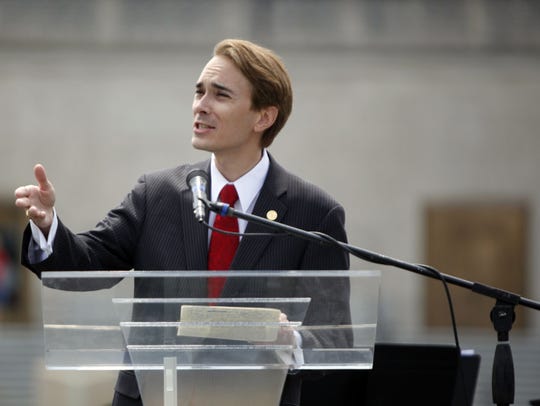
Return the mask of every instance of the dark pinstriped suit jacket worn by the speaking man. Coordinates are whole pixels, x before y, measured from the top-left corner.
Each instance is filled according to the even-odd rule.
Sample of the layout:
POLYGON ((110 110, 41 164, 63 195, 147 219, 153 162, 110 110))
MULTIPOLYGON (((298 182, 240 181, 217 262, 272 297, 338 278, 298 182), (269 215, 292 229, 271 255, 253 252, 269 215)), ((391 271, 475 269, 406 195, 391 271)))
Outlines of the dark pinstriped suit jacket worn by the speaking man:
MULTIPOLYGON (((193 215, 186 176, 193 169, 209 173, 209 167, 207 160, 142 176, 124 201, 91 231, 73 234, 59 221, 54 252, 38 264, 28 262, 27 247, 31 238, 28 227, 23 238, 23 265, 38 276, 46 270, 206 270, 208 230, 193 215)), ((287 172, 272 157, 253 214, 266 217, 269 210, 277 212, 278 222, 346 241, 342 206, 319 188, 287 172)), ((272 231, 249 223, 245 232, 272 231)), ((342 250, 289 236, 244 237, 231 265, 233 270, 348 268, 349 258, 342 250)), ((234 288, 226 285, 224 289, 234 288)), ((310 296, 319 296, 321 300, 312 299, 305 324, 315 320, 350 324, 348 285, 337 288, 342 290, 341 297, 325 295, 328 287, 322 285, 309 287, 310 296)), ((163 287, 136 283, 135 295, 157 297, 159 289, 163 287)), ((204 286, 175 287, 177 294, 186 297, 204 295, 204 289, 204 286)), ((333 289, 335 292, 336 287, 333 289)), ((116 390, 138 396, 133 375, 121 373, 116 390)), ((284 393, 284 396, 288 395, 284 393)))

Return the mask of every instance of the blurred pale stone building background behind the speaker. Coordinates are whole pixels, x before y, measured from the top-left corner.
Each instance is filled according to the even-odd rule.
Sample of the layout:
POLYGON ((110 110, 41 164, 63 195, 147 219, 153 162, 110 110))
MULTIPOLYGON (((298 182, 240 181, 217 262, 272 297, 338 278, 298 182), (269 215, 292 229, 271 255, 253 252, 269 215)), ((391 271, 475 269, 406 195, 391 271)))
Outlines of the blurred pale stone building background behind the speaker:
MULTIPOLYGON (((45 370, 14 189, 43 163, 83 231, 139 175, 206 158, 191 101, 223 38, 283 57, 295 103, 270 152, 344 205, 350 243, 540 300, 539 21, 534 0, 0 0, 0 405, 105 405, 116 377, 45 370)), ((378 341, 453 342, 440 283, 352 268, 382 270, 378 341)), ((451 291, 491 404, 494 300, 451 291)), ((510 342, 528 404, 538 311, 510 342)))

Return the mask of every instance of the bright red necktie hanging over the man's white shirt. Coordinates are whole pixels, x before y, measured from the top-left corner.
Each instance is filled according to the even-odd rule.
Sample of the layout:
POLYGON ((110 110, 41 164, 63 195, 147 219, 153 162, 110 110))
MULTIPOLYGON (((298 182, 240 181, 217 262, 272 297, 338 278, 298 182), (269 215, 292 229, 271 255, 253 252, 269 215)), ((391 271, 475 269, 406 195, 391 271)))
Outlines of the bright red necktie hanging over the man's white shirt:
MULTIPOLYGON (((227 184, 219 193, 219 200, 231 207, 238 200, 238 193, 233 184, 227 184)), ((214 228, 224 231, 238 232, 238 219, 236 217, 216 216, 214 228)), ((208 250, 208 269, 210 271, 227 271, 238 248, 237 235, 223 234, 212 231, 210 248, 208 250)), ((225 278, 208 279, 208 297, 219 297, 225 285, 225 278)))

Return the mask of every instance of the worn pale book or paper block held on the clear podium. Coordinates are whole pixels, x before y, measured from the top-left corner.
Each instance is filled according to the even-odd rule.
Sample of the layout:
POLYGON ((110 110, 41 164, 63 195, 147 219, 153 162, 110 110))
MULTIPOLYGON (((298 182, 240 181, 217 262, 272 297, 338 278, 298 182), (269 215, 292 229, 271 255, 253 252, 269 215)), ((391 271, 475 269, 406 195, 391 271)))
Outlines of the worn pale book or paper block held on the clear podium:
POLYGON ((275 341, 281 311, 263 307, 194 306, 180 309, 179 336, 275 341))

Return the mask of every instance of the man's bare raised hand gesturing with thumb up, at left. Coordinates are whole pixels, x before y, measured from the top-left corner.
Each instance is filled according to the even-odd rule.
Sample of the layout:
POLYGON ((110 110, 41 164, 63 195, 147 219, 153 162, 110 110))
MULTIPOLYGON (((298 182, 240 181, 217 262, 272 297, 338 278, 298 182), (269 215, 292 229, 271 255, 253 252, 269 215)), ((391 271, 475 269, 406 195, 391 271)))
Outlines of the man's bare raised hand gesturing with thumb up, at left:
POLYGON ((34 176, 37 185, 20 186, 15 190, 15 206, 24 209, 26 216, 47 235, 53 221, 56 196, 43 165, 34 166, 34 176))

